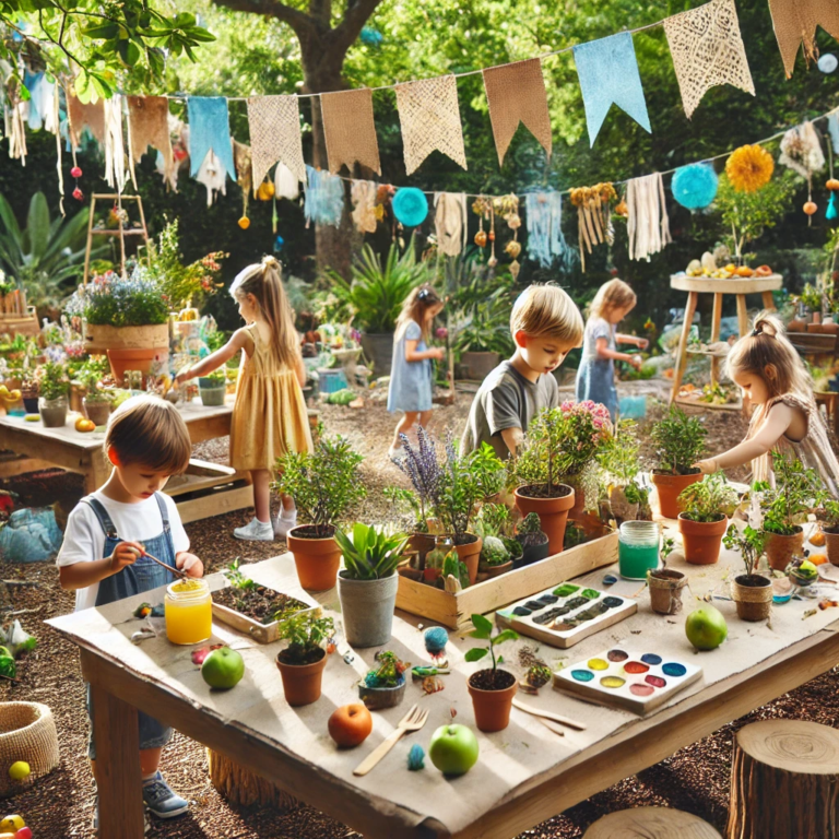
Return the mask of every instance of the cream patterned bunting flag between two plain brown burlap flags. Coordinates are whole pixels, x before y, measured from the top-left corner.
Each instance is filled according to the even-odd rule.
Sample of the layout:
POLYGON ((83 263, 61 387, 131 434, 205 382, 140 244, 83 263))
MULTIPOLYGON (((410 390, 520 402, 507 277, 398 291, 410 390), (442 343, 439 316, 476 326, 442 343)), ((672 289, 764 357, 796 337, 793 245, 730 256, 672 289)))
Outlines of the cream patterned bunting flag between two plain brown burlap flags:
POLYGON ((416 172, 435 150, 465 169, 466 150, 454 76, 398 84, 395 91, 407 174, 416 172))

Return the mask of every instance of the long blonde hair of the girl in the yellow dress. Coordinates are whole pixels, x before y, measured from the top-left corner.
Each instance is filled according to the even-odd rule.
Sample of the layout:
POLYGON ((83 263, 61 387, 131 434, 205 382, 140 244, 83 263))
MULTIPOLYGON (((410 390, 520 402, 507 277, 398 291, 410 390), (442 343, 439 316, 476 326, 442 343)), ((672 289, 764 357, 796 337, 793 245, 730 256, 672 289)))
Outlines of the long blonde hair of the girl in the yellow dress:
POLYGON ((300 355, 300 342, 294 328, 294 310, 283 288, 282 268, 273 257, 240 271, 231 286, 235 300, 252 294, 259 311, 271 330, 271 353, 283 367, 294 367, 300 355))

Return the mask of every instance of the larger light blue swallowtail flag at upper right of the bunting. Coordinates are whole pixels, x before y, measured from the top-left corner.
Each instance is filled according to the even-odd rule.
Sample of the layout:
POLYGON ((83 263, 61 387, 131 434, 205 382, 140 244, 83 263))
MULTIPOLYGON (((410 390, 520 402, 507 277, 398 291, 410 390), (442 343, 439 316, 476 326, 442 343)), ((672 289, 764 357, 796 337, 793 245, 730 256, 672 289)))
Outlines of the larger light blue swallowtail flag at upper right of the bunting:
POLYGON ((613 103, 652 133, 630 33, 580 44, 574 48, 574 60, 592 145, 613 103))

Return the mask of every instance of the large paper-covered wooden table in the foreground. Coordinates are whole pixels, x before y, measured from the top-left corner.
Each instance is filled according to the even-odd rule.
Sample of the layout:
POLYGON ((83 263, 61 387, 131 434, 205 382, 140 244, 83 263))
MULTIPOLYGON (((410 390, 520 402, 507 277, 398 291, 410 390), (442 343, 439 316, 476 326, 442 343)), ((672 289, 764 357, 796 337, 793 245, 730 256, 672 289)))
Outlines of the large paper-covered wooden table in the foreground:
MULTIPOLYGON (((686 571, 693 594, 723 591, 725 575, 741 567, 728 552, 718 566, 687 566, 677 553, 669 566, 686 571)), ((599 584, 604 571, 579 578, 599 584)), ((296 577, 289 556, 248 566, 258 582, 293 592, 296 577)), ((217 588, 220 575, 209 579, 217 588)), ((558 582, 558 581, 557 581, 558 582)), ((621 581, 612 589, 641 583, 621 581)), ((642 587, 642 584, 641 584, 642 587)), ((832 587, 825 587, 826 589, 832 587)), ((626 591, 621 591, 626 596, 626 591)), ((120 624, 149 593, 99 610, 54 618, 61 635, 81 648, 85 678, 93 686, 97 716, 97 768, 104 836, 140 839, 143 835, 140 772, 137 759, 137 708, 154 709, 157 718, 187 736, 221 752, 276 783, 292 795, 352 826, 368 839, 458 837, 509 839, 602 791, 758 706, 826 672, 839 661, 839 610, 816 610, 803 618, 815 601, 791 602, 773 610, 771 626, 745 624, 734 616, 734 604, 714 600, 729 622, 729 639, 716 652, 696 653, 684 636, 684 615, 695 603, 685 592, 685 610, 675 618, 653 615, 643 587, 638 613, 625 622, 586 639, 570 650, 541 646, 548 663, 565 659, 566 665, 625 642, 627 649, 654 647, 663 655, 689 657, 704 667, 704 677, 647 718, 601 708, 559 692, 543 688, 539 697, 521 697, 529 704, 554 710, 588 724, 584 732, 568 730, 556 736, 539 721, 513 708, 510 726, 497 734, 480 734, 481 759, 462 778, 448 779, 426 757, 423 772, 409 773, 405 755, 412 743, 427 751, 432 732, 450 721, 474 725, 465 678, 476 665, 464 662, 473 641, 452 638, 447 648, 452 674, 446 689, 422 697, 409 684, 401 708, 374 714, 374 732, 353 751, 339 751, 326 736, 326 722, 339 705, 352 701, 357 677, 373 662, 376 650, 355 651, 355 673, 340 655, 331 657, 324 672, 323 696, 315 705, 292 709, 282 698, 273 657, 282 645, 256 649, 235 640, 235 633, 214 637, 244 643, 245 680, 233 690, 211 693, 197 669, 162 638, 134 648, 129 642, 133 624, 120 624), (154 646, 156 645, 156 646, 154 646), (358 661, 358 659, 365 659, 358 661), (425 729, 398 745, 365 778, 352 769, 389 734, 413 702, 429 709, 425 729)), ((333 591, 317 595, 327 607, 336 600, 333 591)), ((389 645, 400 657, 423 657, 422 634, 416 621, 398 613, 389 645)), ((505 658, 516 661, 513 645, 505 645, 505 658)), ((339 650, 343 650, 340 648, 339 650)), ((480 665, 477 665, 480 666, 480 665)), ((356 699, 357 700, 357 699, 356 699)))

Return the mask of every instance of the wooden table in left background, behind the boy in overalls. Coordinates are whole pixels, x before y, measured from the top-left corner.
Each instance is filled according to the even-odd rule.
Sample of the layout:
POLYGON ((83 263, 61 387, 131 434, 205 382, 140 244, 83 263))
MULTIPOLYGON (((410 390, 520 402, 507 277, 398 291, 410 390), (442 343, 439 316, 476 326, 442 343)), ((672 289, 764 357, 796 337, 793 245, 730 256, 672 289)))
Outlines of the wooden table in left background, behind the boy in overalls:
MULTIPOLYGON (((193 444, 226 437, 231 433, 233 405, 204 407, 198 402, 178 406, 187 423, 193 444)), ((46 428, 43 423, 27 423, 23 417, 0 417, 0 449, 11 449, 26 459, 0 464, 0 475, 9 476, 23 471, 47 466, 61 466, 84 475, 84 489, 98 489, 110 475, 110 464, 102 451, 104 432, 76 432, 76 414, 70 414, 62 428, 46 428)), ((192 460, 187 473, 173 477, 164 492, 175 497, 181 521, 189 522, 218 516, 253 505, 253 489, 248 473, 229 466, 192 460), (210 495, 202 492, 213 487, 233 485, 210 495)))

